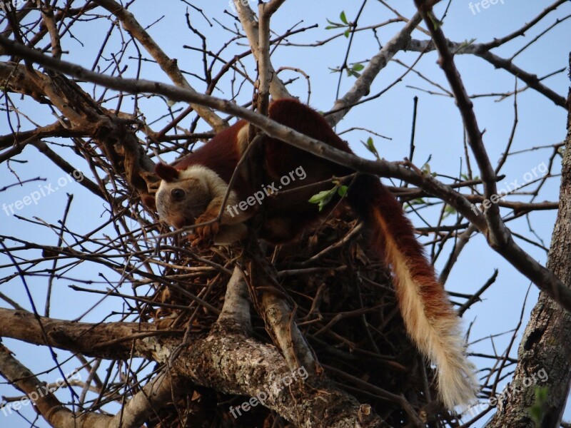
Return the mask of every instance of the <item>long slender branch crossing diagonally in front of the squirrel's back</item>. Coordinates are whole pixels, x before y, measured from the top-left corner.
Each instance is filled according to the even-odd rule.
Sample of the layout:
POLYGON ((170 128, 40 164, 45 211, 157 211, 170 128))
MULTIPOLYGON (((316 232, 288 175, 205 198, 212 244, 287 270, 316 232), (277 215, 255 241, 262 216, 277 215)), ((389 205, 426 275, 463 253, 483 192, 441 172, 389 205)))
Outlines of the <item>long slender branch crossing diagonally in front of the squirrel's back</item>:
MULTIPOLYGON (((98 83, 102 86, 116 89, 117 91, 125 91, 129 93, 159 93, 174 101, 201 103, 208 107, 216 108, 217 110, 225 111, 226 113, 231 113, 246 119, 258 128, 261 128, 261 130, 268 134, 268 136, 278 138, 281 141, 285 141, 285 143, 289 143, 292 146, 313 153, 315 156, 319 156, 320 158, 329 159, 330 161, 348 166, 349 168, 353 168, 360 172, 371 173, 383 177, 402 178, 408 183, 418 185, 418 187, 423 188, 428 193, 445 200, 446 203, 452 205, 456 210, 468 218, 468 220, 474 223, 480 232, 488 235, 487 222, 485 218, 480 213, 475 213, 473 211, 472 204, 470 204, 463 195, 456 192, 448 185, 435 180, 430 175, 415 172, 387 161, 368 161, 350 153, 339 151, 320 143, 320 141, 308 138, 301 133, 293 131, 293 129, 281 126, 278 123, 271 121, 271 119, 266 116, 262 116, 254 111, 237 106, 235 103, 222 100, 221 98, 207 96, 201 93, 192 93, 185 89, 176 88, 175 86, 166 85, 164 83, 126 78, 119 79, 94 73, 93 71, 89 71, 86 68, 75 64, 66 61, 59 61, 56 58, 40 54, 33 49, 27 49, 25 46, 16 44, 14 41, 10 41, 1 36, 0 45, 4 46, 8 51, 21 56, 26 56, 32 61, 41 63, 48 68, 60 71, 61 73, 68 73, 71 76, 83 78, 87 81, 91 81, 92 83, 98 83)), ((475 121, 471 126, 473 131, 477 130, 477 123, 475 123, 475 121)), ((479 133, 479 131, 477 132, 479 133)), ((495 184, 493 184, 490 189, 488 183, 487 193, 490 193, 490 190, 493 191, 494 188, 495 184)), ((509 230, 505 230, 507 231, 507 235, 502 237, 505 238, 505 241, 492 241, 494 243, 492 248, 512 263, 512 265, 522 272, 523 275, 532 280, 540 290, 546 292, 547 295, 552 297, 559 305, 564 307, 565 310, 571 312, 571 290, 567 288, 561 280, 553 275, 552 272, 545 269, 545 267, 542 267, 540 263, 537 263, 537 261, 517 246, 512 239, 509 230)))

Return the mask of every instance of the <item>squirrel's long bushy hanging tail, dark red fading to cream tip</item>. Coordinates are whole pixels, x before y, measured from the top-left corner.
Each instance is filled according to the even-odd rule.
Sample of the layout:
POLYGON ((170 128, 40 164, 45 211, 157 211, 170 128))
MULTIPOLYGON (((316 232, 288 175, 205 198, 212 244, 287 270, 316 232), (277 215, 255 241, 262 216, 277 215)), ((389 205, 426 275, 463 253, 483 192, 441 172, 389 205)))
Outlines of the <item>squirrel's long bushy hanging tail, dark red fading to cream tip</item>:
POLYGON ((460 320, 400 204, 373 175, 359 175, 348 199, 369 226, 373 248, 393 270, 405 327, 437 367, 440 399, 448 409, 473 402, 477 382, 465 356, 460 320))

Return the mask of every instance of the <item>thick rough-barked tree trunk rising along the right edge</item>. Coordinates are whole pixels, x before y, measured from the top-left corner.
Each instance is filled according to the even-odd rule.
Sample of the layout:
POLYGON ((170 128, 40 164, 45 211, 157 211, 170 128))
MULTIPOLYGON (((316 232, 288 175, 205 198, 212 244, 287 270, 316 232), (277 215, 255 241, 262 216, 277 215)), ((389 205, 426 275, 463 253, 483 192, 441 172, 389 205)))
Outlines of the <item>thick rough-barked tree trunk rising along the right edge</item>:
MULTIPOLYGON (((571 285, 571 114, 547 267, 571 285)), ((571 381, 570 356, 571 314, 542 292, 520 343, 513 382, 497 397, 497 412, 487 427, 560 427, 571 381)))

